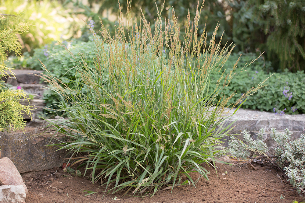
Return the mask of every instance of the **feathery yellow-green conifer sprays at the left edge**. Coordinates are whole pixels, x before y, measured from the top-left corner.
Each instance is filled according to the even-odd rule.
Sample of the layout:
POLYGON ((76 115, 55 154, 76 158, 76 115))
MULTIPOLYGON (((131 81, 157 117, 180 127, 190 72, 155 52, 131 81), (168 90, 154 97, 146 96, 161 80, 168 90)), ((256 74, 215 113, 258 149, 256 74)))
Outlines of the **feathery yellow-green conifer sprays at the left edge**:
MULTIPOLYGON (((8 20, 4 16, 0 14, 0 22, 8 20)), ((27 31, 29 27, 28 24, 24 23, 13 21, 9 23, 14 23, 14 27, 6 27, 7 22, 0 24, 0 78, 8 77, 9 73, 13 75, 12 69, 4 63, 6 53, 10 51, 20 53, 20 43, 17 41, 17 34, 27 31)), ((0 131, 11 128, 14 130, 18 128, 24 129, 25 121, 23 120, 22 114, 26 113, 31 115, 31 107, 21 105, 19 102, 20 99, 28 99, 23 90, 2 89, 0 84, 0 131)))

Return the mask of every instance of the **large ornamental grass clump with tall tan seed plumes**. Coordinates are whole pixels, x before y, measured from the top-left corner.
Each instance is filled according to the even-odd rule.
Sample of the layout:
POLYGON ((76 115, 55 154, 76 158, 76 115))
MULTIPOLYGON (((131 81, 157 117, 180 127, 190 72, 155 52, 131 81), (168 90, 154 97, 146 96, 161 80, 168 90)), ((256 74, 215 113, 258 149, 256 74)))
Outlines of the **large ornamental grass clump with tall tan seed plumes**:
POLYGON ((195 185, 197 180, 188 174, 194 171, 208 180, 202 164, 213 166, 217 144, 230 128, 220 124, 234 93, 222 95, 216 105, 214 101, 228 86, 236 65, 224 76, 221 68, 234 46, 216 44, 218 26, 208 47, 205 31, 193 35, 202 8, 198 3, 193 23, 188 14, 182 44, 174 12, 172 20, 162 21, 162 7, 152 33, 144 17, 132 24, 128 7, 127 36, 122 14, 115 36, 104 28, 101 39, 92 32, 95 67, 88 67, 80 54, 76 70, 81 78, 74 81, 75 89, 44 75, 63 98, 60 111, 66 119, 53 123, 56 132, 69 138, 60 149, 86 153, 82 160, 92 170, 92 182, 99 181, 106 191, 153 195, 165 186, 195 185), (217 87, 210 91, 213 81, 218 81, 217 87))

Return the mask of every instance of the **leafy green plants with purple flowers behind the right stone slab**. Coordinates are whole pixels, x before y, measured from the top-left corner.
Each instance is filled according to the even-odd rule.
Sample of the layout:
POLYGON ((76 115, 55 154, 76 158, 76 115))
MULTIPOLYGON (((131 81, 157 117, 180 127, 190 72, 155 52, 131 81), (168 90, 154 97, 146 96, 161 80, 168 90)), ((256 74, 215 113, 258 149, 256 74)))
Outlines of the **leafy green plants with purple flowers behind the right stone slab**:
MULTIPOLYGON (((257 82, 270 75, 259 66, 255 68, 257 69, 245 68, 246 71, 239 69, 242 72, 235 76, 224 93, 228 95, 235 90, 236 95, 233 96, 233 99, 236 100, 248 89, 254 87, 257 82)), ((226 73, 229 74, 229 70, 226 73)), ((267 86, 264 89, 260 89, 243 103, 243 108, 270 111, 281 115, 305 113, 305 74, 303 71, 291 73, 285 70, 282 73, 274 73, 265 84, 267 86)))

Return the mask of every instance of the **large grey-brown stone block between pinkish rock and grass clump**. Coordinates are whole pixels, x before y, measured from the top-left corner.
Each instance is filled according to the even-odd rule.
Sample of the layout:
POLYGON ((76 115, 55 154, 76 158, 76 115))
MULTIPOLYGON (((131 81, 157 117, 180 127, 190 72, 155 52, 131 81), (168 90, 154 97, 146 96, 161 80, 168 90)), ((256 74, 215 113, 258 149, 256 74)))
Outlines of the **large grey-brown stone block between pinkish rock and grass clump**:
MULTIPOLYGON (((58 137, 57 137, 58 138, 58 137)), ((25 132, 0 132, 2 156, 15 164, 19 173, 48 170, 63 164, 64 151, 56 151, 56 146, 46 146, 52 142, 52 135, 42 134, 38 128, 25 128, 25 132)))

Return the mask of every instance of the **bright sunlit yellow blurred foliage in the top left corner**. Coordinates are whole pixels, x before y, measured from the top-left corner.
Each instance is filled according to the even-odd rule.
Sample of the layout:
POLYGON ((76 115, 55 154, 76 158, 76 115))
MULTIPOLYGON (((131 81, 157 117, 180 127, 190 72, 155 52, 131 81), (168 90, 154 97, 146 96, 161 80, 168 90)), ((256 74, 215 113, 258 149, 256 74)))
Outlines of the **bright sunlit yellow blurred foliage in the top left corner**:
MULTIPOLYGON (((80 26, 84 26, 82 20, 71 15, 71 10, 64 9, 58 1, 1 0, 0 5, 0 13, 13 15, 7 16, 9 20, 14 20, 18 16, 19 22, 33 25, 29 27, 28 32, 17 34, 21 53, 27 51, 33 54, 34 48, 53 41, 69 39, 80 26)), ((5 26, 13 24, 6 23, 5 26)))

